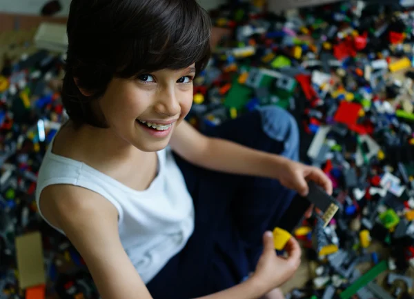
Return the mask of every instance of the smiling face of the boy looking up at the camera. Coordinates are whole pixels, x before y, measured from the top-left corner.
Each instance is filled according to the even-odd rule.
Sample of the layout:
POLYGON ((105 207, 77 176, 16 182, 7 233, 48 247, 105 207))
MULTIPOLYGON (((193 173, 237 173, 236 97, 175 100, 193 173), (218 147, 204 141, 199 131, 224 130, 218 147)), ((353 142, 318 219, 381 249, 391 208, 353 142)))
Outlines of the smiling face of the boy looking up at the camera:
POLYGON ((112 79, 99 101, 110 130, 144 152, 163 149, 190 111, 194 76, 193 64, 134 80, 112 79))

